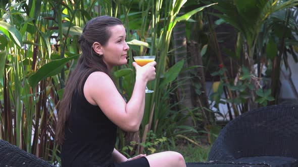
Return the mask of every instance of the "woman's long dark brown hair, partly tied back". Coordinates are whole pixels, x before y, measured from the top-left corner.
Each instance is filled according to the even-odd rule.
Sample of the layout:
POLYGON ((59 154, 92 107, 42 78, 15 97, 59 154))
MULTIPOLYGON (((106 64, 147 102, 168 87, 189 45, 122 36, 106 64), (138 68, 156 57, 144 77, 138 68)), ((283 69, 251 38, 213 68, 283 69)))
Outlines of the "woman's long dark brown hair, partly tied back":
MULTIPOLYGON (((92 48, 94 42, 105 46, 111 37, 109 28, 122 25, 122 22, 110 16, 100 16, 93 18, 85 25, 79 43, 82 54, 78 59, 77 66, 71 72, 65 87, 63 99, 57 106, 58 122, 56 126, 56 141, 63 144, 65 124, 71 111, 72 95, 82 94, 83 79, 91 71, 102 71, 109 75, 107 65, 103 60, 103 55, 98 55, 92 48)), ((110 76, 110 75, 109 75, 110 76)))

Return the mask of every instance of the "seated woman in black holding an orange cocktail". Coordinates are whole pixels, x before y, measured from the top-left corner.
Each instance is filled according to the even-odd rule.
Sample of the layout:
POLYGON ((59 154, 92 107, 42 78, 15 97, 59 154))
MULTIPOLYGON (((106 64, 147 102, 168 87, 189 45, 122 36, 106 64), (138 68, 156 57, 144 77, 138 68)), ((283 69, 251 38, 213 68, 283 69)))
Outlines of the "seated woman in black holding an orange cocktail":
POLYGON ((124 101, 111 79, 111 69, 127 63, 129 46, 121 21, 109 16, 90 20, 80 37, 82 55, 59 105, 56 137, 62 145, 62 166, 184 167, 183 156, 165 151, 127 159, 114 147, 117 127, 139 129, 147 81, 155 78, 156 62, 139 66, 132 97, 124 101))

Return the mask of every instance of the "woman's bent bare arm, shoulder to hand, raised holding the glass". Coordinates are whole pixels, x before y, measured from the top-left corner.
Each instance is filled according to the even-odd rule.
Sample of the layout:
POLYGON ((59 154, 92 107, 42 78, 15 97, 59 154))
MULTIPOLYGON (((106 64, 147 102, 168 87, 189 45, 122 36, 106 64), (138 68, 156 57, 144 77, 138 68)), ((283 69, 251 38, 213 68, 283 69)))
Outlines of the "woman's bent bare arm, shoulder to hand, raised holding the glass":
POLYGON ((147 81, 155 78, 156 62, 136 68, 136 81, 133 93, 126 103, 119 94, 112 79, 104 72, 93 72, 84 85, 84 96, 92 105, 98 105, 105 115, 125 131, 137 131, 145 108, 145 88, 147 81))

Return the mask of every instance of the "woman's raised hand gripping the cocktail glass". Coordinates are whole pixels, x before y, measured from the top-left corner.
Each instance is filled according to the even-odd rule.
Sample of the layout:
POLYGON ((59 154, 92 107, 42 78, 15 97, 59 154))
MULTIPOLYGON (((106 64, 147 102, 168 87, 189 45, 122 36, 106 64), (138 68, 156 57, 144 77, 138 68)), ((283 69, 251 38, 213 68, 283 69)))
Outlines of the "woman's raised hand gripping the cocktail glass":
POLYGON ((143 79, 146 82, 155 79, 156 72, 155 72, 155 65, 156 61, 147 63, 144 66, 139 66, 136 62, 132 62, 136 70, 136 79, 143 79))

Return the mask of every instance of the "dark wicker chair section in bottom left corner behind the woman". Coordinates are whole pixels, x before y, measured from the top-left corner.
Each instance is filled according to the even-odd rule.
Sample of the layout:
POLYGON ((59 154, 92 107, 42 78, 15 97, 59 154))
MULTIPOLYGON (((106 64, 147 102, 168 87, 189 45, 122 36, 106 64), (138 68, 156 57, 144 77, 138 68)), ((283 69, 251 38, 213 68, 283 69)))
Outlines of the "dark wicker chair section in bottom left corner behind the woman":
POLYGON ((0 167, 2 166, 54 167, 35 155, 30 154, 5 140, 0 140, 0 167))

